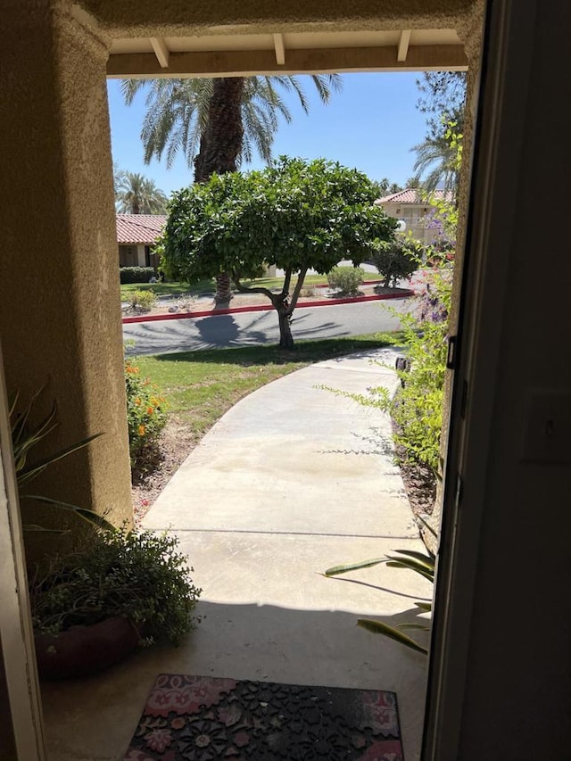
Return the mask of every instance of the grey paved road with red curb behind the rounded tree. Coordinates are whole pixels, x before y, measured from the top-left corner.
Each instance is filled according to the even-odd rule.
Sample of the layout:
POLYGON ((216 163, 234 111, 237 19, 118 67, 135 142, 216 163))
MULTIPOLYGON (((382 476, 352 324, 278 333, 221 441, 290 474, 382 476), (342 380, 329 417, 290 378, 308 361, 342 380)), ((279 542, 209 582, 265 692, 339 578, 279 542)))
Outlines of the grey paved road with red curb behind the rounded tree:
MULTIPOLYGON (((409 306, 407 299, 394 299, 298 308, 292 322, 294 341, 398 330, 399 319, 389 310, 404 311, 409 306)), ((123 326, 123 336, 125 340, 135 341, 135 345, 127 349, 129 354, 164 354, 278 343, 279 329, 277 314, 270 310, 128 323, 123 326)))

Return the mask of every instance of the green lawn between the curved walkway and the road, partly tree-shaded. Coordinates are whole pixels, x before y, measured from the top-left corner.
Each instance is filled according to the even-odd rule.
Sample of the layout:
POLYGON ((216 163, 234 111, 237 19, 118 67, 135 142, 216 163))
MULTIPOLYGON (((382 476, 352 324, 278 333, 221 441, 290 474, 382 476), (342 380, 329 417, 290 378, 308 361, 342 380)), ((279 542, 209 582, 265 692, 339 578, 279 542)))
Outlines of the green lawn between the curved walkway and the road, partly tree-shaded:
POLYGON ((196 443, 236 401, 262 385, 313 362, 399 343, 401 337, 400 333, 359 335, 299 341, 291 352, 277 346, 248 346, 133 357, 131 361, 159 386, 169 403, 170 416, 191 432, 196 443))

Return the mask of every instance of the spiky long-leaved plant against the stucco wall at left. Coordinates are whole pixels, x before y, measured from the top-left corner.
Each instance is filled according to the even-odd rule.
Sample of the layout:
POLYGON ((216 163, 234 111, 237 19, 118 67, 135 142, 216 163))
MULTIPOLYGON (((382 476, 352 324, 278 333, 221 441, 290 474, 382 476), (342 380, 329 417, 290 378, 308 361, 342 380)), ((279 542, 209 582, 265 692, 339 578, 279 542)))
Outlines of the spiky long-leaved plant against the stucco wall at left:
MULTIPOLYGON (((41 502, 45 505, 50 505, 53 508, 70 510, 74 515, 87 521, 92 525, 96 525, 102 528, 112 529, 112 525, 105 520, 102 516, 95 513, 94 510, 87 508, 81 508, 78 505, 71 505, 69 502, 62 502, 62 500, 54 500, 51 497, 45 497, 40 494, 28 494, 23 493, 22 487, 27 484, 40 473, 46 470, 46 467, 57 462, 59 459, 67 457, 71 452, 78 451, 86 447, 88 443, 94 441, 102 434, 93 434, 87 436, 79 442, 70 444, 68 447, 64 447, 62 450, 55 451, 53 454, 48 455, 43 459, 38 459, 35 462, 29 462, 29 453, 33 448, 43 441, 46 436, 51 434, 59 423, 56 422, 57 405, 54 401, 52 409, 46 415, 46 418, 39 423, 32 424, 30 417, 32 409, 37 401, 37 398, 44 391, 44 388, 40 388, 34 393, 28 402, 28 405, 21 412, 17 411, 18 401, 20 393, 15 393, 9 404, 10 425, 12 430, 12 452, 14 458, 14 467, 16 470, 16 483, 18 484, 18 492, 21 500, 33 500, 41 502)), ((54 534, 62 534, 64 532, 58 529, 47 529, 37 524, 25 524, 22 526, 25 531, 49 531, 54 534)))

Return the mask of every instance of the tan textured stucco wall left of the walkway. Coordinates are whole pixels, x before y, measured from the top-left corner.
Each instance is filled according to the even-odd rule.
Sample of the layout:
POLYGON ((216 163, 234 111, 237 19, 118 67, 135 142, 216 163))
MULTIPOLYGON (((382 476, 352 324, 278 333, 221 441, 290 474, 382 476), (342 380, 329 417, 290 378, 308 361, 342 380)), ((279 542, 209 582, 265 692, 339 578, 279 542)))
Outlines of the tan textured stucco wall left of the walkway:
POLYGON ((67 4, 4 3, 0 326, 9 391, 46 382, 48 451, 104 435, 46 471, 43 491, 131 516, 107 49, 67 4))

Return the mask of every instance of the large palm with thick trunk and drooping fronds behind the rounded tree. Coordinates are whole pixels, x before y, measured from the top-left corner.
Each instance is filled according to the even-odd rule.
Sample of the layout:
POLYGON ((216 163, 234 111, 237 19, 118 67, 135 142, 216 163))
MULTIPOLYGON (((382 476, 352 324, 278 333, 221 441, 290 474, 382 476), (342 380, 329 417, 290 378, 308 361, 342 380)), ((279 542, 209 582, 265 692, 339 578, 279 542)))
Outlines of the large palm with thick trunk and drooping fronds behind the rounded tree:
MULTIPOLYGON (((341 89, 337 74, 311 77, 323 103, 331 92, 341 89)), ((194 181, 204 182, 211 174, 236 171, 252 161, 254 149, 264 161, 271 160, 271 145, 278 116, 286 122, 292 115, 278 87, 298 96, 304 112, 309 103, 297 77, 226 77, 217 79, 124 79, 121 91, 128 105, 137 92, 149 88, 147 111, 141 130, 145 162, 161 159, 166 150, 167 166, 179 151, 191 167, 194 181)), ((216 278, 216 302, 232 297, 230 277, 216 278)))

